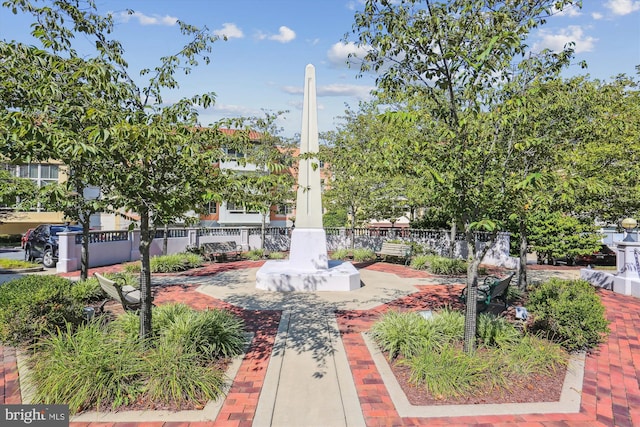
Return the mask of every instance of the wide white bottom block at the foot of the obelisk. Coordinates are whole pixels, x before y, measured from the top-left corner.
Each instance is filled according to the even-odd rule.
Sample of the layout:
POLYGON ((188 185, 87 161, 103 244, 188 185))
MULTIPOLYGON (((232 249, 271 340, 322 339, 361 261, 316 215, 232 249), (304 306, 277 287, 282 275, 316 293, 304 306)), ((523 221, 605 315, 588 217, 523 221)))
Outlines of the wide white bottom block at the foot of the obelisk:
POLYGON ((276 292, 354 291, 360 273, 350 262, 329 261, 329 268, 301 270, 289 260, 267 261, 256 273, 256 288, 276 292))

